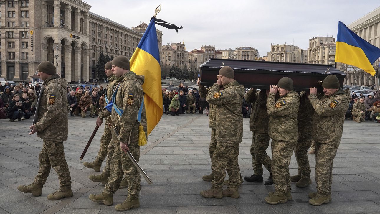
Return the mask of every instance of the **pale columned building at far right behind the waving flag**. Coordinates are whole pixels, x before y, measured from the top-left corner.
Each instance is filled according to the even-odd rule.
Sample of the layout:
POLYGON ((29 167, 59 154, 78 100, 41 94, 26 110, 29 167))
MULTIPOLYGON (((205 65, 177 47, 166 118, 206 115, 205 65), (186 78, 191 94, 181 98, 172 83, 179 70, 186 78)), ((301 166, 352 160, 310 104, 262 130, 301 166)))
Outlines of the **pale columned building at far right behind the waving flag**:
MULTIPOLYGON (((370 44, 380 48, 380 7, 347 25, 347 27, 370 44)), ((376 84, 377 87, 379 86, 378 76, 372 77, 364 71, 354 72, 353 69, 348 70, 346 71, 347 84, 352 83, 360 86, 376 84)), ((375 62, 375 70, 379 72, 379 60, 375 62)))

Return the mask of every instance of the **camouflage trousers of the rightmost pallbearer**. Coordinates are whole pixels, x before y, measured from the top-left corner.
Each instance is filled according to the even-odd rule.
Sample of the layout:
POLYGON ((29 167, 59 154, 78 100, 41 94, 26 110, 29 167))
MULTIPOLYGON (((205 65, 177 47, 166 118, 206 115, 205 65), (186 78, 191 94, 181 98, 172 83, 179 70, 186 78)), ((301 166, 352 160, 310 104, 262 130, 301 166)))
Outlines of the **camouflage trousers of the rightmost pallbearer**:
POLYGON ((317 195, 327 197, 331 194, 332 161, 335 158, 337 146, 315 142, 315 182, 317 183, 317 195))

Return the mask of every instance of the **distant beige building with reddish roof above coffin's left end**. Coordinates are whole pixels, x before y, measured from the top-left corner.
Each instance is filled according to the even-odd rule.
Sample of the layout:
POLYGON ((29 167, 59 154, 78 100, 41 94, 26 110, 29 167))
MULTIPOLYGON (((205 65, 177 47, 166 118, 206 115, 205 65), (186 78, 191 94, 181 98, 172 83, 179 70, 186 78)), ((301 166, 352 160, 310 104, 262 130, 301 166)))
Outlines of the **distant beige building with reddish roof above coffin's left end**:
POLYGON ((189 52, 188 68, 193 71, 199 69, 199 65, 208 59, 222 59, 222 52, 215 50, 215 46, 202 46, 200 49, 193 49, 189 52))

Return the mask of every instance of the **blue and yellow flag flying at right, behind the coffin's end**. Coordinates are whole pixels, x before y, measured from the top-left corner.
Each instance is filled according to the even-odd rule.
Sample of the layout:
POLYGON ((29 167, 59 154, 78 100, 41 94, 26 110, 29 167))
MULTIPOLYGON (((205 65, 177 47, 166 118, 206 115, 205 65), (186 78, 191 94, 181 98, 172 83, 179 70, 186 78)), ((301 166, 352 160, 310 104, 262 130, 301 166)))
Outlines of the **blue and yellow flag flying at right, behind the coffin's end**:
POLYGON ((346 25, 339 22, 336 39, 335 62, 342 62, 376 74, 372 64, 380 57, 380 49, 360 38, 346 25))

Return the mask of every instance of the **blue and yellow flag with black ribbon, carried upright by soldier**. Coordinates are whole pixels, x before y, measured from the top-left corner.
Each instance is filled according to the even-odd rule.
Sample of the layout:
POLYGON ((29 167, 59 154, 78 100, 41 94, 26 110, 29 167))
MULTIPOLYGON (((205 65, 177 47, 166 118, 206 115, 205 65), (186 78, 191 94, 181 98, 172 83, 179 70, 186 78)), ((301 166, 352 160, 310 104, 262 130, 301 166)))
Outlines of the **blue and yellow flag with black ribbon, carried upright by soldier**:
POLYGON ((163 113, 161 90, 160 52, 158 51, 157 32, 154 18, 142 36, 130 60, 131 71, 145 76, 144 105, 147 119, 147 134, 154 129, 163 113))

